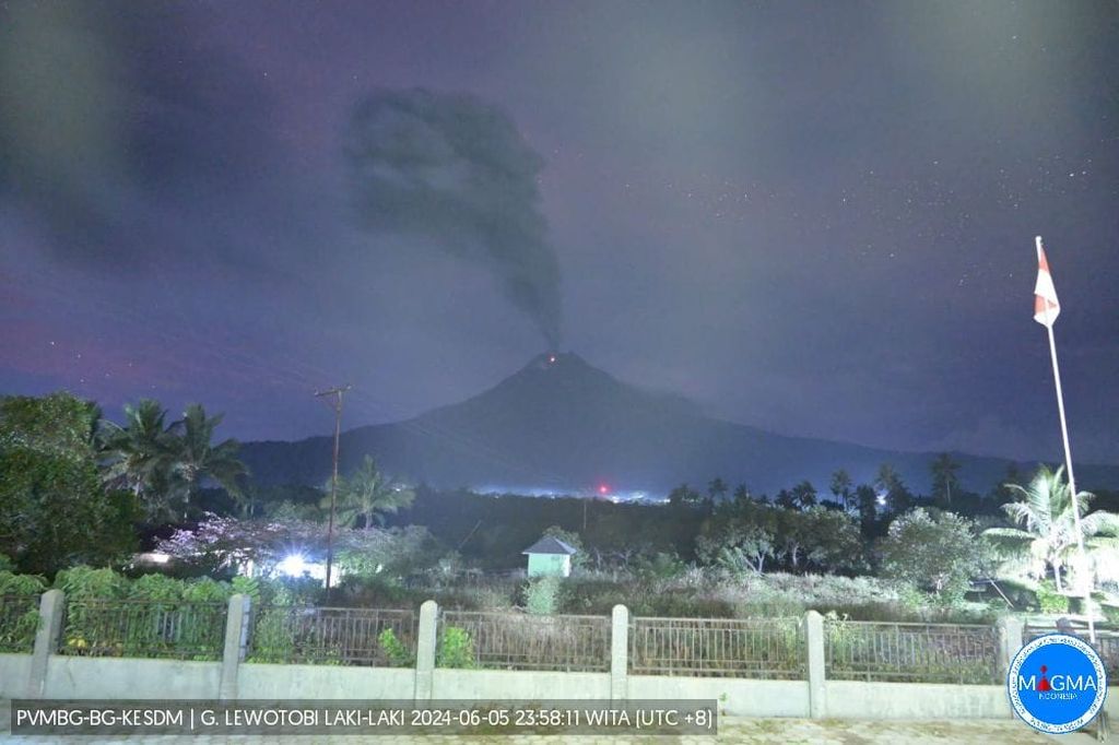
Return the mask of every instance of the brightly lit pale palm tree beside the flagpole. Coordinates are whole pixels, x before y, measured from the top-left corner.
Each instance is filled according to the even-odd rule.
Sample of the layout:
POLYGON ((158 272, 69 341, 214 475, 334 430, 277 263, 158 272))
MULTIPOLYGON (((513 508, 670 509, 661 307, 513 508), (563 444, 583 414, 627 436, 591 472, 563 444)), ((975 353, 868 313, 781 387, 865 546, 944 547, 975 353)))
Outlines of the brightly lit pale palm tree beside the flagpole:
MULTIPOLYGON (((1064 466, 1054 472, 1041 465, 1028 487, 1008 483, 1006 488, 1018 500, 1004 504, 1003 511, 1021 527, 989 528, 984 535, 1004 554, 1028 562, 1034 576, 1040 577, 1046 567, 1053 567, 1056 590, 1063 592, 1061 569, 1076 549, 1076 522, 1064 466)), ((1119 535, 1119 515, 1102 510, 1089 515, 1088 507, 1094 498, 1096 494, 1087 491, 1076 494, 1084 548, 1115 549, 1119 546, 1113 537, 1119 535)))

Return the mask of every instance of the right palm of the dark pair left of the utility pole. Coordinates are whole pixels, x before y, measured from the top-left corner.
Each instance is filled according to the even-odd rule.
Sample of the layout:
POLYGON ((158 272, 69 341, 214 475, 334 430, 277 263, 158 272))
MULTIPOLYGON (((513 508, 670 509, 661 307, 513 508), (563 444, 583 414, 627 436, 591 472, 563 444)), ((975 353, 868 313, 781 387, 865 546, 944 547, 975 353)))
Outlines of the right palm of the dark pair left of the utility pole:
POLYGON ((182 494, 182 515, 187 516, 190 498, 207 479, 216 481, 234 499, 241 498, 237 480, 248 475, 248 469, 237 459, 241 443, 225 440, 213 444, 214 430, 222 423, 223 415, 206 416, 201 404, 190 404, 182 413, 182 419, 171 425, 176 433, 172 473, 178 480, 182 494))

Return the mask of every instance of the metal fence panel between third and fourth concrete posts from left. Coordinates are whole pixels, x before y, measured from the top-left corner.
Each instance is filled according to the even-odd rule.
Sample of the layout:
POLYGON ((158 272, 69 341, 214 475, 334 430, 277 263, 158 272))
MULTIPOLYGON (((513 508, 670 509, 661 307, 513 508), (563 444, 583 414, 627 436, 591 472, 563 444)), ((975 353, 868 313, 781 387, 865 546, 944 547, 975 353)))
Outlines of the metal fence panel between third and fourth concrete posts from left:
POLYGON ((606 672, 610 617, 445 611, 435 664, 606 672))

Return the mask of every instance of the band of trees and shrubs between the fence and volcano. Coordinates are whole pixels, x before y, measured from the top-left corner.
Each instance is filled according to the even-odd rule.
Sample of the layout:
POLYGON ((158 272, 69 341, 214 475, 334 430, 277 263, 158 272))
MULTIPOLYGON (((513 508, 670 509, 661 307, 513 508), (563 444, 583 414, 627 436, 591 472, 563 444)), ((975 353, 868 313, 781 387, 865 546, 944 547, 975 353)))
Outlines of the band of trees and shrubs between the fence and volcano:
MULTIPOLYGON (((130 556, 143 547, 178 559, 167 572, 214 582, 278 575, 292 555, 321 560, 329 485, 253 482, 237 443, 214 441, 220 418, 192 405, 169 422, 143 400, 117 425, 68 394, 0 399, 0 553, 10 568, 66 584, 66 569, 82 564, 135 573, 130 556)), ((338 483, 330 543, 344 578, 330 601, 901 619, 974 616, 1008 602, 1060 610, 1083 582, 1116 590, 1119 517, 1089 511, 1093 497, 1080 496, 1091 562, 1078 565, 1060 469, 1008 473, 982 496, 960 488, 947 454, 930 470, 931 494, 913 493, 883 464, 873 483, 837 471, 825 496, 803 481, 769 498, 715 477, 703 489, 680 484, 658 506, 439 491, 366 458, 338 483), (521 551, 545 532, 580 549, 575 575, 525 583, 521 551), (998 577, 1000 595, 972 595, 969 605, 979 577, 998 577)), ((8 582, 25 575, 9 572, 8 582)), ((314 587, 304 583, 307 598, 322 600, 314 587)))

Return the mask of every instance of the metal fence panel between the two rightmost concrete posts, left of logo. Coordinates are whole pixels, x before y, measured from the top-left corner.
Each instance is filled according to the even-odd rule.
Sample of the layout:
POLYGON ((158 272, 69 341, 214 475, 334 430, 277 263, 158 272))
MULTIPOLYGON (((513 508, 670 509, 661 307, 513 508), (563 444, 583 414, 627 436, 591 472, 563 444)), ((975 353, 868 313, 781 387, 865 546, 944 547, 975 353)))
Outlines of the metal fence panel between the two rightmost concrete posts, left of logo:
POLYGON ((998 632, 970 624, 828 621, 829 680, 997 683, 998 632))

